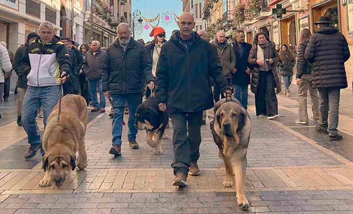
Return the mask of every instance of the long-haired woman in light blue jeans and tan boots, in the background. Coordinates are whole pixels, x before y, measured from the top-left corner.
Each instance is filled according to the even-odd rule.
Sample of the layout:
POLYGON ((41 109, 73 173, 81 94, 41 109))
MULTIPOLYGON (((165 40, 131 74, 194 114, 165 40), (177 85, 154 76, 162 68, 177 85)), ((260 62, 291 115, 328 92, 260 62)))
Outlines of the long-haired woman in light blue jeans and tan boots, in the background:
POLYGON ((280 75, 283 77, 283 81, 285 82, 285 90, 283 90, 283 94, 289 97, 291 96, 289 86, 291 85, 293 79, 295 58, 289 51, 287 44, 282 44, 278 55, 280 57, 280 61, 277 63, 277 66, 279 67, 280 75))

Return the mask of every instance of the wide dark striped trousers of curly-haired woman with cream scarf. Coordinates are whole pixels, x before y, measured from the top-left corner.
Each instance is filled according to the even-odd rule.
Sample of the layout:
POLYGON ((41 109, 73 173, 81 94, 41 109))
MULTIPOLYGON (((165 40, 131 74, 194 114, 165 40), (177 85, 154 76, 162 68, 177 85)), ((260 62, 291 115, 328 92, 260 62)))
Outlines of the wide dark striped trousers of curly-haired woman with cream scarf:
POLYGON ((256 115, 278 114, 278 102, 275 94, 275 79, 272 71, 260 71, 255 94, 256 115))

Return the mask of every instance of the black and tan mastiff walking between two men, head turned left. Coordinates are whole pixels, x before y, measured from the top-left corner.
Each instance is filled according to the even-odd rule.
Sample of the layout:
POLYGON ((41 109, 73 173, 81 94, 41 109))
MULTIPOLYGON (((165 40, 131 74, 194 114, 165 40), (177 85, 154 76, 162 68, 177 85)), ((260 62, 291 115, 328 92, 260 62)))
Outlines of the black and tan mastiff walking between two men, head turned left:
POLYGON ((135 127, 138 130, 146 130, 146 143, 155 147, 155 154, 162 155, 162 139, 168 139, 164 130, 168 124, 169 115, 158 108, 156 97, 148 97, 136 110, 135 127))

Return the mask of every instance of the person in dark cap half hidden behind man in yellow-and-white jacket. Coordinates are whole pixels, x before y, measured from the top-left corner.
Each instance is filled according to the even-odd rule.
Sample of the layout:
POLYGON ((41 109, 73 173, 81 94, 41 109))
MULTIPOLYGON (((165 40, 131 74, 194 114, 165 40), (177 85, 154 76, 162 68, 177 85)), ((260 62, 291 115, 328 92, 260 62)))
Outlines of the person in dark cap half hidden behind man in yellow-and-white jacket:
POLYGON ((24 95, 26 94, 27 90, 27 77, 26 76, 19 76, 21 71, 21 58, 24 56, 26 53, 28 44, 31 43, 32 41, 35 41, 36 38, 38 37, 38 34, 36 32, 30 32, 27 36, 26 43, 21 45, 19 48, 17 48, 16 53, 15 53, 15 59, 13 60, 13 69, 15 70, 18 78, 17 78, 17 125, 22 126, 22 102, 24 99, 24 95))

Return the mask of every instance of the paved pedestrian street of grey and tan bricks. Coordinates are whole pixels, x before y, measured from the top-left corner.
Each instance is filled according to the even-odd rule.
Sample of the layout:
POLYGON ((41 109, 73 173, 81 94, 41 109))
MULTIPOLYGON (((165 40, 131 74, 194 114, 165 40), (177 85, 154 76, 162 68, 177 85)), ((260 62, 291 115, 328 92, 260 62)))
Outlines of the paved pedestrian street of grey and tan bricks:
MULTIPOLYGON (((256 117, 254 96, 249 91, 252 132, 245 193, 251 207, 245 213, 353 213, 352 95, 341 94, 339 133, 343 140, 334 142, 315 132, 316 122, 294 123, 298 118, 297 87, 292 85, 291 90, 292 97, 277 95, 281 117, 275 121, 256 117)), ((308 105, 310 117, 310 102, 308 105)), ((189 176, 188 186, 179 189, 172 185, 170 168, 172 127, 167 129, 169 138, 163 140, 163 155, 155 155, 145 143, 144 131, 137 135, 140 148, 130 149, 124 126, 122 156, 114 157, 108 153, 112 139, 108 110, 110 107, 105 114, 89 112, 85 136, 88 167, 71 171, 60 188, 39 186, 44 175, 40 154, 25 160, 28 145, 24 130, 14 120, 2 125, 0 213, 244 212, 237 205, 234 188, 222 187, 225 168, 208 124, 202 126, 201 175, 189 176)), ((127 122, 127 117, 124 120, 127 122)))

